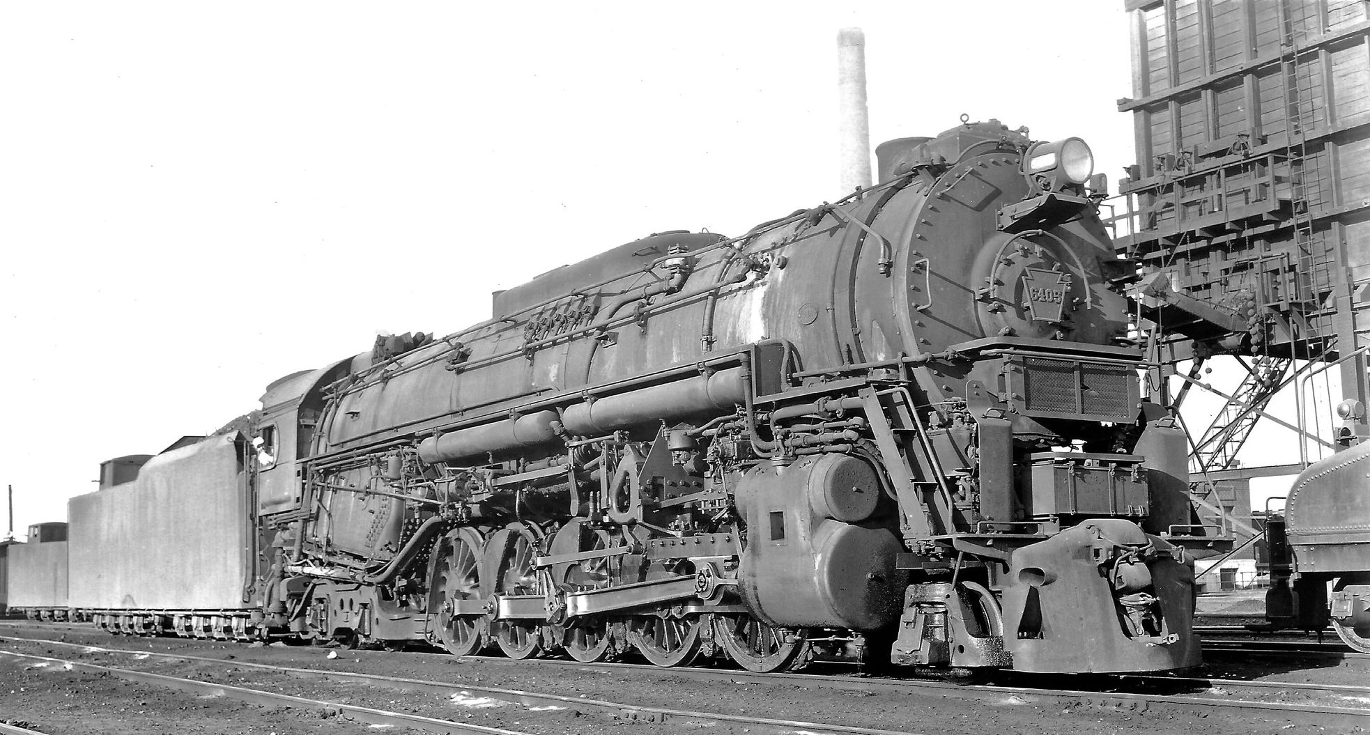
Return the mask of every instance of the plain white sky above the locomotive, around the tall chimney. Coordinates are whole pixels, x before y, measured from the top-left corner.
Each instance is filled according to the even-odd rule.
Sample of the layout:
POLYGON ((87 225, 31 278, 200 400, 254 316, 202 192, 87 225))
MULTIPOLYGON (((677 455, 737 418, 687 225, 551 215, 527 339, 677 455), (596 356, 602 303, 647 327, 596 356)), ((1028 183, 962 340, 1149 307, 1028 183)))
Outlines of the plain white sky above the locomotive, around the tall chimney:
POLYGON ((852 25, 873 145, 964 112, 1082 136, 1111 182, 1133 160, 1121 0, 5 4, 15 527, 377 330, 445 334, 555 266, 841 196, 852 25))

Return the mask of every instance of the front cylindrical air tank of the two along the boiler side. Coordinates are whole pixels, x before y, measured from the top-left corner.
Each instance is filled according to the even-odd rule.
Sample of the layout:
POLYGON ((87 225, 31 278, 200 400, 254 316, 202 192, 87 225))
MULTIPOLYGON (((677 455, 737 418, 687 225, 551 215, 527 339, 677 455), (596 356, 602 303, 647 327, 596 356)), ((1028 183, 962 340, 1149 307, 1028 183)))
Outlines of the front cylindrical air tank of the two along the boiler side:
POLYGON ((732 409, 743 400, 743 371, 730 368, 712 375, 575 404, 562 415, 562 423, 571 434, 607 434, 619 428, 732 409))

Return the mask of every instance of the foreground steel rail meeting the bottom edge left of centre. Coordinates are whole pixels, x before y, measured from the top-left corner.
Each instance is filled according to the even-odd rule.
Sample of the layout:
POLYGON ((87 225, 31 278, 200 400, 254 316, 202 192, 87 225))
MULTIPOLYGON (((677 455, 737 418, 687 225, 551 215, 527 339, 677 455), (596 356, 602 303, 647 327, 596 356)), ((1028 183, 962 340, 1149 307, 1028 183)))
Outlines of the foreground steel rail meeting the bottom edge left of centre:
MULTIPOLYGON (((99 664, 88 664, 85 661, 71 661, 66 658, 51 658, 47 656, 33 656, 29 653, 15 653, 8 650, 0 650, 0 656, 10 656, 14 658, 23 658, 30 661, 45 661, 48 664, 62 664, 63 667, 71 667, 77 671, 89 671, 95 673, 105 673, 123 679, 127 682, 136 682, 140 684, 151 684, 162 688, 173 688, 177 691, 189 691, 195 694, 212 694, 222 695, 230 699, 237 699, 240 702, 248 702, 253 705, 269 705, 269 706, 288 706, 288 708, 303 708, 303 709, 333 709, 338 713, 347 714, 353 720, 359 720, 373 725, 401 725, 401 727, 416 727, 430 732, 449 732, 452 735, 527 735, 516 730, 501 730, 497 727, 484 727, 484 725, 470 725, 462 723, 453 723, 451 720, 437 720, 434 717, 423 717, 421 714, 406 714, 403 712, 388 712, 384 709, 364 708, 359 705, 345 705, 341 702, 325 702, 321 699, 307 699, 304 697, 293 697, 289 694, 279 694, 274 691, 262 691, 256 688, 237 687, 232 684, 219 684, 215 682, 200 682, 196 679, 181 679, 178 676, 166 676, 162 673, 151 673, 145 671, 121 669, 115 667, 101 667, 99 664)), ((219 660, 222 661, 222 660, 219 660)))

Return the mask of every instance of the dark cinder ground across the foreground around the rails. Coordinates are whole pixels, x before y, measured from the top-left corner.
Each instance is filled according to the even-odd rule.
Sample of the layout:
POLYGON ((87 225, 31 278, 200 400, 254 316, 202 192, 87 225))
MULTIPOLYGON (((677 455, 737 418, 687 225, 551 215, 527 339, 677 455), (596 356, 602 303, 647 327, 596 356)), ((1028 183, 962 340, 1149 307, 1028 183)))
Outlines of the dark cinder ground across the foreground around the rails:
MULTIPOLYGON (((459 661, 433 653, 334 652, 307 647, 248 647, 236 643, 182 641, 173 638, 116 638, 75 626, 0 627, 4 635, 63 638, 96 646, 190 653, 221 658, 215 664, 167 664, 155 657, 82 654, 93 662, 145 668, 177 676, 192 676, 247 687, 270 688, 300 697, 359 704, 378 709, 415 712, 429 717, 453 719, 488 727, 532 734, 593 732, 681 732, 696 731, 688 721, 651 724, 615 720, 607 714, 567 710, 534 712, 521 705, 499 705, 478 695, 449 699, 395 690, 340 686, 262 673, 236 662, 266 662, 299 668, 356 671, 534 693, 588 697, 643 706, 712 713, 745 713, 781 720, 859 725, 925 735, 941 734, 1188 734, 1259 735, 1286 734, 1288 721, 1254 719, 1249 713, 1188 716, 1163 712, 1119 712, 1088 704, 1038 705, 1006 695, 995 702, 966 702, 918 693, 882 690, 848 691, 818 683, 812 686, 752 683, 741 675, 729 684, 697 682, 673 675, 643 675, 632 669, 603 672, 578 667, 508 665, 459 661)), ((0 643, 19 650, 10 642, 0 643)), ((26 653, 74 657, 75 649, 23 645, 26 653)), ((0 657, 3 658, 3 657, 0 657)), ((1314 669, 1307 676, 1328 672, 1314 669)), ((1303 680, 1299 672, 1281 672, 1288 680, 1303 680)), ((1358 682, 1365 683, 1365 672, 1358 682)), ((23 669, 12 664, 0 668, 0 721, 18 719, 45 734, 237 734, 266 735, 375 732, 373 728, 325 717, 321 712, 264 709, 223 699, 196 699, 190 695, 149 690, 127 682, 79 672, 23 669)), ((1295 725, 1300 732, 1345 732, 1295 725)), ((710 728, 708 732, 733 732, 710 728)), ((738 728, 736 732, 745 732, 738 728)))

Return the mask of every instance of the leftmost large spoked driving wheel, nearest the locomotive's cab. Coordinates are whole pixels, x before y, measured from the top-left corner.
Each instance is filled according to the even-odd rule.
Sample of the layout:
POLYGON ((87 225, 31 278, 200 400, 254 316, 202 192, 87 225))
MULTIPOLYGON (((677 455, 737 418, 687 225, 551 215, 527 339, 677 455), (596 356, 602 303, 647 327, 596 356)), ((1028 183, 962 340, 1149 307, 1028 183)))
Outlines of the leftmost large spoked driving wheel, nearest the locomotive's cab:
POLYGON ((463 601, 481 598, 481 537, 458 528, 440 538, 433 553, 429 612, 437 615, 437 636, 453 656, 485 647, 484 613, 473 615, 463 601))

